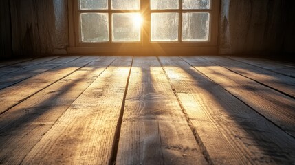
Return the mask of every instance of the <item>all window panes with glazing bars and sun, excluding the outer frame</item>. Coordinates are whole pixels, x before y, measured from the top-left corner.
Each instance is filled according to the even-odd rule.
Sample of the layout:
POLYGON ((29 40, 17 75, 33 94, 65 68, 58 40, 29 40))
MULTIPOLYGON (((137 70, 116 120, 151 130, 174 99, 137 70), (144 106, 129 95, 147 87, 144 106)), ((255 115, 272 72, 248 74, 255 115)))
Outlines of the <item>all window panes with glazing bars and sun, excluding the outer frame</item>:
POLYGON ((150 41, 189 45, 209 43, 212 38, 210 0, 78 1, 82 43, 150 41))

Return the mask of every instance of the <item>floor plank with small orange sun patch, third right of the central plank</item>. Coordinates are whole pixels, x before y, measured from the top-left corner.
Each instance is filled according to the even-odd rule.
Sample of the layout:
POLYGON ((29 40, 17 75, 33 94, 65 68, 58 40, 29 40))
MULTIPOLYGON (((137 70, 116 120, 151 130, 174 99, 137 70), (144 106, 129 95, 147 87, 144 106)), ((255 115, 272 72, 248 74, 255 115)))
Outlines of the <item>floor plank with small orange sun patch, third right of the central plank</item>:
POLYGON ((222 58, 217 56, 204 56, 206 60, 215 63, 221 67, 225 67, 232 72, 241 74, 247 78, 251 78, 258 83, 271 87, 283 94, 295 98, 295 78, 277 74, 269 70, 261 69, 252 65, 241 63, 239 61, 233 61, 228 58, 222 58))

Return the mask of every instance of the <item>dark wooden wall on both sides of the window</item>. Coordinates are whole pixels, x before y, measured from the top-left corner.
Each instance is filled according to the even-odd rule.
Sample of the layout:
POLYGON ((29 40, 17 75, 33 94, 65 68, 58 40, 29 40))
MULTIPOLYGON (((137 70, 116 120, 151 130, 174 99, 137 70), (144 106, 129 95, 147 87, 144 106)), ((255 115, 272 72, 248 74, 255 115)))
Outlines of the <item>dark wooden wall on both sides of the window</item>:
MULTIPOLYGON (((295 53, 295 1, 221 0, 220 54, 295 53)), ((0 58, 66 54, 67 0, 1 0, 0 58)))

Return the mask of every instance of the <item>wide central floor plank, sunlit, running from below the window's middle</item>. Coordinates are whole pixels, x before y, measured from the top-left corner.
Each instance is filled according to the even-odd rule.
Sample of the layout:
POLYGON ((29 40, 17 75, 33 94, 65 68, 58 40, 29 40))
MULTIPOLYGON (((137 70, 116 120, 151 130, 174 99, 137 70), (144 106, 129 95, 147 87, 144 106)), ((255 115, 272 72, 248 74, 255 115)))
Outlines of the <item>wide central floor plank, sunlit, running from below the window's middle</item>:
POLYGON ((156 57, 134 58, 116 164, 207 164, 156 57))

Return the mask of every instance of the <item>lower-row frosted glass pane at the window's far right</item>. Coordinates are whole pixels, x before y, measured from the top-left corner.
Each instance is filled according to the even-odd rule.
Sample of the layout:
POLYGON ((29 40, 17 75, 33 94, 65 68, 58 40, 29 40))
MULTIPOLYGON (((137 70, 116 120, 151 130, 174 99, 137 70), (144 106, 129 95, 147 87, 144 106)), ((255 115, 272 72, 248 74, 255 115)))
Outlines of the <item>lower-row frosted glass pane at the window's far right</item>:
POLYGON ((182 41, 208 41, 210 14, 188 12, 182 14, 182 41))

